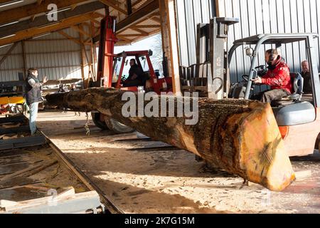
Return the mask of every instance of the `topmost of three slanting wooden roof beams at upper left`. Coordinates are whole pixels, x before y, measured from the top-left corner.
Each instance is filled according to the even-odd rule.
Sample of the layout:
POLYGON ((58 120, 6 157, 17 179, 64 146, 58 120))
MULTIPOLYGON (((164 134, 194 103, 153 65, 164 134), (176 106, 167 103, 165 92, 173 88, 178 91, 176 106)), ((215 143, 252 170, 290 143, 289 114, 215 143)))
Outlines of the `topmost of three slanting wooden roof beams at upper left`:
POLYGON ((28 16, 48 12, 49 4, 56 4, 58 9, 63 9, 75 4, 80 4, 81 2, 84 2, 84 0, 43 0, 41 4, 34 3, 14 9, 8 9, 0 12, 0 25, 18 21, 19 19, 23 19, 28 16))

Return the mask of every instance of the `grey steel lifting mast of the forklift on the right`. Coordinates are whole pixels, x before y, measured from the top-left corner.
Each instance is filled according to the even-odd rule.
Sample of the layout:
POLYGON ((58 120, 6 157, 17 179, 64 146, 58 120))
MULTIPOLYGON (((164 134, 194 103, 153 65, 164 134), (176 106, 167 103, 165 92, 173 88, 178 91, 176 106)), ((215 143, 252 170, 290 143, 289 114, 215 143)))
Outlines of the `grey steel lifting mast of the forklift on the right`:
POLYGON ((196 64, 180 66, 183 92, 196 91, 218 100, 228 97, 228 28, 238 22, 237 18, 214 17, 210 24, 198 24, 196 64))

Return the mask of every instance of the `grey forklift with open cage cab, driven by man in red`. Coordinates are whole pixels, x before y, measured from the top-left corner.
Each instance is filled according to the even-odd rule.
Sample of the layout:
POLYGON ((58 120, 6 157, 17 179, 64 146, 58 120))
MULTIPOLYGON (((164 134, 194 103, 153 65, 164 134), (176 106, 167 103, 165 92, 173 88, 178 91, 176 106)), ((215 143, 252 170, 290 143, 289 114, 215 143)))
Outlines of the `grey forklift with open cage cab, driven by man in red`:
MULTIPOLYGON (((229 97, 250 100, 255 94, 270 89, 268 86, 252 83, 252 80, 257 76, 263 76, 267 72, 265 51, 270 48, 277 48, 280 55, 284 57, 284 61, 288 63, 289 60, 285 59, 287 48, 292 48, 294 43, 299 45, 300 56, 293 56, 292 62, 299 62, 299 64, 304 60, 309 62, 312 93, 304 93, 304 78, 300 73, 292 71, 293 66, 288 63, 290 71, 292 71, 290 76, 294 91, 291 95, 287 95, 280 100, 274 100, 270 104, 291 156, 312 154, 316 138, 319 135, 320 81, 316 38, 318 38, 318 35, 315 33, 251 36, 235 41, 228 56, 229 65, 232 66, 235 53, 238 53, 237 57, 239 58, 239 54, 242 55, 240 52, 245 48, 243 62, 250 66, 250 71, 244 71, 246 74, 238 76, 240 80, 231 85, 229 97), (297 146, 297 140, 304 142, 302 143, 304 146, 297 146)), ((241 69, 237 69, 237 72, 241 73, 241 69)))

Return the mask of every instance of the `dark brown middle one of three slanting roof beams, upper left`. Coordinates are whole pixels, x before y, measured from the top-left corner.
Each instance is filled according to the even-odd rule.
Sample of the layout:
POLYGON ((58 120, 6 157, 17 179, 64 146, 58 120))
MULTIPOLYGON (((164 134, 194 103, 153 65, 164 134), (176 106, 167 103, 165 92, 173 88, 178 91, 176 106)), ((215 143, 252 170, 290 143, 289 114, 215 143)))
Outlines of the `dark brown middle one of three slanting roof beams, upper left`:
MULTIPOLYGON (((68 11, 63 11, 58 13, 58 19, 63 20, 63 19, 68 19, 73 16, 78 16, 80 14, 86 14, 92 11, 96 11, 98 9, 103 9, 105 7, 104 4, 100 2, 91 2, 89 4, 84 4, 81 6, 76 7, 73 11, 68 10, 68 11)), ((5 36, 10 36, 11 34, 15 34, 18 31, 26 30, 29 28, 33 27, 38 27, 38 26, 45 26, 46 24, 50 24, 51 22, 48 21, 48 18, 46 15, 39 16, 34 21, 21 21, 17 24, 12 24, 10 26, 5 26, 0 30, 0 38, 5 37, 5 36)))

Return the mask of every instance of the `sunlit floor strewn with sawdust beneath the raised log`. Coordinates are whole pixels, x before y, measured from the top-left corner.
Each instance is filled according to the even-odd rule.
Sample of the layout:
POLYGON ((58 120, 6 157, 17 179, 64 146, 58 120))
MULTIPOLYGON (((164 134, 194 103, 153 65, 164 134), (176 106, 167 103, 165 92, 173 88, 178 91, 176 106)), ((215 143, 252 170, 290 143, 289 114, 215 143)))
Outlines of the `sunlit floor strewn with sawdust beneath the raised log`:
MULTIPOLYGON (((297 181, 283 192, 196 162, 194 155, 139 133, 91 128, 85 114, 39 113, 38 127, 127 213, 319 213, 320 154, 292 157, 297 181), (137 140, 138 139, 138 140, 137 140)), ((90 125, 93 125, 90 121, 90 125)))

